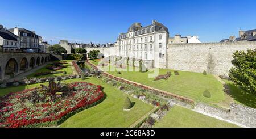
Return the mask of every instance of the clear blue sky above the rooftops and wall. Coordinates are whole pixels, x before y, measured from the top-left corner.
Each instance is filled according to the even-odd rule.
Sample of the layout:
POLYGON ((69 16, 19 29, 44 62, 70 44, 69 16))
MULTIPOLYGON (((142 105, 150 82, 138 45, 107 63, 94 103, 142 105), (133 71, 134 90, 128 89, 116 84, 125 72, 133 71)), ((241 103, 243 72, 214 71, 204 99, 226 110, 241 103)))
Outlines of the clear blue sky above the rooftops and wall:
POLYGON ((52 44, 60 39, 79 43, 114 43, 134 23, 157 20, 170 36, 197 35, 215 42, 238 30, 256 28, 255 0, 9 0, 1 1, 0 24, 36 31, 52 44))

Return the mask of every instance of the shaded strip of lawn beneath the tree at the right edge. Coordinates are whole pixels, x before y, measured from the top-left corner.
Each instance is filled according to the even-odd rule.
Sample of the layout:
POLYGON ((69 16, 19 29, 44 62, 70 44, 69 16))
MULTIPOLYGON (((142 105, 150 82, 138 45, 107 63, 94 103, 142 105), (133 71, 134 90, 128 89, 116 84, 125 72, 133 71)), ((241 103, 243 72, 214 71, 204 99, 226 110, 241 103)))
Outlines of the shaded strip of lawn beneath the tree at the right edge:
POLYGON ((230 96, 236 103, 256 108, 256 95, 241 90, 239 87, 235 86, 232 81, 228 81, 226 79, 222 80, 229 86, 230 96))

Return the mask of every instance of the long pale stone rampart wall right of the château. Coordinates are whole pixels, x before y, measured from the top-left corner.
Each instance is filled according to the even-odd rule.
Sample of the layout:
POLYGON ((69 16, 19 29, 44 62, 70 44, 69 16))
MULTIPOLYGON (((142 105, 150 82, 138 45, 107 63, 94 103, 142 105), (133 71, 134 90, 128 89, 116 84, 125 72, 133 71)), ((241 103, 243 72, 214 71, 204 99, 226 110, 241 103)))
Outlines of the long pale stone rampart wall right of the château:
POLYGON ((235 43, 168 44, 167 68, 228 75, 236 50, 255 49, 255 41, 235 43))

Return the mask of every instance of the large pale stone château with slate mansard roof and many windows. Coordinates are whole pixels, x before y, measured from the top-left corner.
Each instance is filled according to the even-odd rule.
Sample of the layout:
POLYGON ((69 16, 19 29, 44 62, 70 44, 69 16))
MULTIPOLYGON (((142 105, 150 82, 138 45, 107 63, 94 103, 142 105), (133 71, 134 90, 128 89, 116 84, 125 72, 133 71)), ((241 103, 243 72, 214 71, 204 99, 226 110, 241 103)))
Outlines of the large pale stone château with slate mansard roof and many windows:
POLYGON ((166 68, 168 39, 168 28, 155 20, 146 27, 133 23, 126 33, 120 33, 115 48, 119 57, 143 60, 153 67, 166 68))

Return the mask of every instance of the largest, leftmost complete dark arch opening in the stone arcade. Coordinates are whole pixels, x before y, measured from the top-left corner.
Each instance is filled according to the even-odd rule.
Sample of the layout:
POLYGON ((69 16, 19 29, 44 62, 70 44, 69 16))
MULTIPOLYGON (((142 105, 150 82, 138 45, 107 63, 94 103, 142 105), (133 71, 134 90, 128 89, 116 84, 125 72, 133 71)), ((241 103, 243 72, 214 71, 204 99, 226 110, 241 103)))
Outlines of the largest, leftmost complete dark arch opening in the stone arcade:
POLYGON ((5 76, 14 77, 15 73, 18 73, 18 62, 10 58, 5 66, 5 76))

